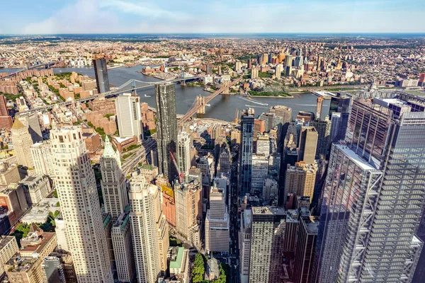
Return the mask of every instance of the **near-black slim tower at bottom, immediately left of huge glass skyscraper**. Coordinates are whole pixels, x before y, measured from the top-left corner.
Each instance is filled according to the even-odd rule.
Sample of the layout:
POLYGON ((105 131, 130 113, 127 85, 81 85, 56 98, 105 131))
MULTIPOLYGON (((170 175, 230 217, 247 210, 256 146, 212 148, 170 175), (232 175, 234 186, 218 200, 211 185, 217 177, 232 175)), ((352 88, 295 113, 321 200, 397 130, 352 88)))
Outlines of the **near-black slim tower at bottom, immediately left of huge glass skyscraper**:
POLYGON ((319 217, 301 217, 295 252, 294 282, 310 282, 313 278, 314 251, 316 248, 319 217))

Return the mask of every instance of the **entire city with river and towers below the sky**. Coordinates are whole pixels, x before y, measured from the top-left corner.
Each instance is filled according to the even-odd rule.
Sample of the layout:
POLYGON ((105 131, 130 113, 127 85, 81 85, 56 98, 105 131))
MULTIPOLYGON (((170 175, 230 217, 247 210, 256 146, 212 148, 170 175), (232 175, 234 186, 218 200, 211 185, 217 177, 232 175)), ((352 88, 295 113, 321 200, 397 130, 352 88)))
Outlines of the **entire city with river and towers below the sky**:
POLYGON ((0 282, 424 282, 425 37, 1 36, 0 126, 0 282))

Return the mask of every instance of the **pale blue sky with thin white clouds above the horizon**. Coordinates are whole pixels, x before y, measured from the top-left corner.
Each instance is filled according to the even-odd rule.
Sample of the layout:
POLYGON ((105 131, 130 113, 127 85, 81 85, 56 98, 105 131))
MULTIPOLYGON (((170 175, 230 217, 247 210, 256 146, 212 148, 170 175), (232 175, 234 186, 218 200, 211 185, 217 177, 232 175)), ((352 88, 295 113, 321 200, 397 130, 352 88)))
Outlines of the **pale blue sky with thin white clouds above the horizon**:
POLYGON ((424 0, 3 0, 0 34, 425 33, 424 0))

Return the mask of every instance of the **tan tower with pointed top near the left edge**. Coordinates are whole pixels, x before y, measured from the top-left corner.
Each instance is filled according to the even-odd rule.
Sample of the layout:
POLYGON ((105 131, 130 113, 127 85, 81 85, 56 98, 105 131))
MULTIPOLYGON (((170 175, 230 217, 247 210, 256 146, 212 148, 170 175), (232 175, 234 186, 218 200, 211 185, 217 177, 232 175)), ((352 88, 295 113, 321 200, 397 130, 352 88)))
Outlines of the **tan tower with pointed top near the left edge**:
POLYGON ((18 164, 33 168, 34 163, 30 151, 30 147, 33 145, 33 139, 31 139, 31 135, 28 132, 28 127, 23 125, 19 119, 15 119, 15 122, 13 122, 11 138, 16 158, 18 158, 18 164))

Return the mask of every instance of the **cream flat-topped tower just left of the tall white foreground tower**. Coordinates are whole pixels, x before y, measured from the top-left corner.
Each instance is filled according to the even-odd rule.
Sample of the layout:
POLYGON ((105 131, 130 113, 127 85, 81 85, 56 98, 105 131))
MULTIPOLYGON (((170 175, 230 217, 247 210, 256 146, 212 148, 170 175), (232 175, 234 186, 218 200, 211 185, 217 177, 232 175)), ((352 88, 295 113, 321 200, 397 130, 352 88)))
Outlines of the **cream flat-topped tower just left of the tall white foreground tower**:
POLYGON ((52 145, 50 141, 33 144, 30 147, 30 151, 35 173, 37 175, 49 175, 50 178, 53 178, 55 175, 55 166, 53 165, 52 145))

